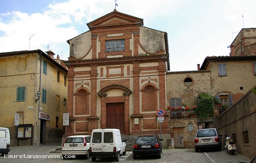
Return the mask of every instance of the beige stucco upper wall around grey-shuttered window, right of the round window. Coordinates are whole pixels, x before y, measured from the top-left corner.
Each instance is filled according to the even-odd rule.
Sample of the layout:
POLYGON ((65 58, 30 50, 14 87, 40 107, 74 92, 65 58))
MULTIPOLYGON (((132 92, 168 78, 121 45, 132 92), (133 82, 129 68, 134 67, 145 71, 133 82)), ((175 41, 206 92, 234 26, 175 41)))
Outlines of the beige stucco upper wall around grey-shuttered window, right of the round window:
POLYGON ((233 102, 236 102, 255 84, 253 64, 253 61, 210 62, 212 95, 233 94, 233 102), (226 64, 226 76, 218 75, 220 63, 226 64))

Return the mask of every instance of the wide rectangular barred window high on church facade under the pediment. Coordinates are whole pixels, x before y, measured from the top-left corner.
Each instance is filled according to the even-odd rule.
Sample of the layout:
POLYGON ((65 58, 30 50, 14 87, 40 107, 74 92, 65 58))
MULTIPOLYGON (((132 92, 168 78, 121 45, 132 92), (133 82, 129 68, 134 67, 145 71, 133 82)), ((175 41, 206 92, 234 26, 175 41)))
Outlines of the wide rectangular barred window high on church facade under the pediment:
POLYGON ((124 51, 125 50, 125 40, 107 40, 106 42, 106 51, 124 51))

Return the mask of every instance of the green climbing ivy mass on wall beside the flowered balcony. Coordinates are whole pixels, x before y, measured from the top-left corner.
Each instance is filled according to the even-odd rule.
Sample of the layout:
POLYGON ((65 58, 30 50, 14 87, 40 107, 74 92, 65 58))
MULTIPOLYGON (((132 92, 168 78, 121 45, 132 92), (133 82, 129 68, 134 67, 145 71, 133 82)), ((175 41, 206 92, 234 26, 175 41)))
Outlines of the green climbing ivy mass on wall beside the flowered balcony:
POLYGON ((198 95, 196 114, 201 120, 213 117, 214 97, 207 93, 198 95))

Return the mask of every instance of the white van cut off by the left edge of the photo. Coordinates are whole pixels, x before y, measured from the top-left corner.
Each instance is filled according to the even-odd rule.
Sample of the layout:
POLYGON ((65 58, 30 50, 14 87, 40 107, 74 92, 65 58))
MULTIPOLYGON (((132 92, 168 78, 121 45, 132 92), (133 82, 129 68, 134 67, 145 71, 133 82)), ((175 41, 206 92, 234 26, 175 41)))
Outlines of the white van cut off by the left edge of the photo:
POLYGON ((10 132, 8 128, 0 127, 0 153, 2 156, 10 152, 10 132))

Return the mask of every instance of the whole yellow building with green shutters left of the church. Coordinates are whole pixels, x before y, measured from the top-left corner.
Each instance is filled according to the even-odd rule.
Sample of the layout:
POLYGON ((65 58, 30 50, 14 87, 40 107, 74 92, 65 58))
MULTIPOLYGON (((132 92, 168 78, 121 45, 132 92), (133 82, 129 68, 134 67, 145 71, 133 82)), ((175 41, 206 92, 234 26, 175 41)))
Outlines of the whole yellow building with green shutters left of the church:
POLYGON ((12 146, 60 142, 64 134, 67 67, 47 53, 0 53, 0 125, 10 129, 12 146))

